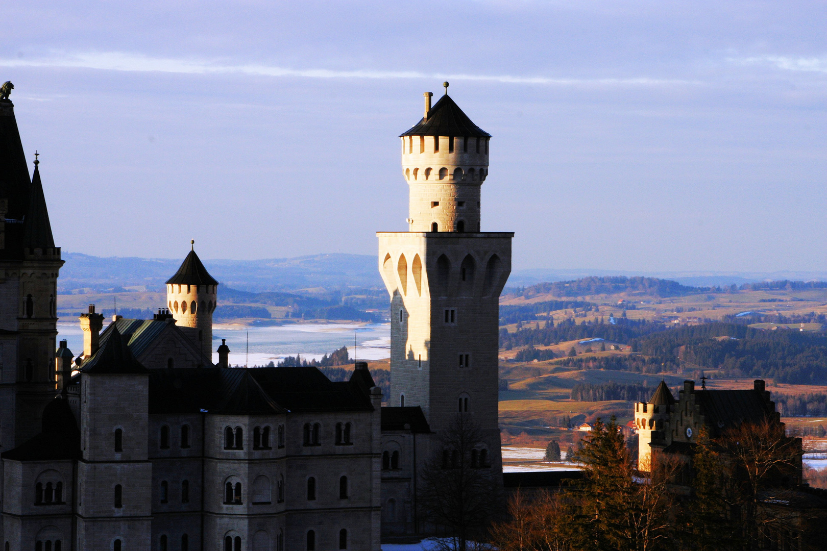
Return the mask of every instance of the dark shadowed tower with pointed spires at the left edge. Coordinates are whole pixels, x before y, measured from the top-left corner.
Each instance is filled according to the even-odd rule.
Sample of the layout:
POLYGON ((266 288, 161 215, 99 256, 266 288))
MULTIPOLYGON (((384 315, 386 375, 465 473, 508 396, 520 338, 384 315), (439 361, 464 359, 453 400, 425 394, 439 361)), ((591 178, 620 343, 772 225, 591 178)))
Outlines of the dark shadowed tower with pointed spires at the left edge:
POLYGON ((34 164, 30 178, 14 105, 0 99, 0 452, 40 432, 56 392, 57 277, 64 261, 34 164))

